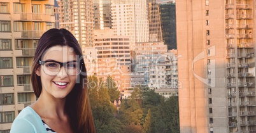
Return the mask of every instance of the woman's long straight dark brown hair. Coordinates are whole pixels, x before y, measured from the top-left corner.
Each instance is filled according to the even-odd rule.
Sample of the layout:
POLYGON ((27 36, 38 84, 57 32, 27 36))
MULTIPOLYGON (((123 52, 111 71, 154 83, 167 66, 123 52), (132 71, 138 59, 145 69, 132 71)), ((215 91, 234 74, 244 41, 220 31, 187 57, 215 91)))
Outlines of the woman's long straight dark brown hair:
POLYGON ((71 128, 73 132, 96 132, 90 108, 89 93, 87 90, 87 73, 83 61, 82 49, 74 35, 64 28, 52 28, 46 31, 39 39, 31 74, 34 94, 39 98, 42 91, 41 79, 35 73, 39 67, 38 62, 41 60, 43 53, 53 46, 73 47, 75 53, 79 56, 80 64, 83 64, 82 72, 78 76, 75 86, 66 97, 65 110, 69 115, 71 128))

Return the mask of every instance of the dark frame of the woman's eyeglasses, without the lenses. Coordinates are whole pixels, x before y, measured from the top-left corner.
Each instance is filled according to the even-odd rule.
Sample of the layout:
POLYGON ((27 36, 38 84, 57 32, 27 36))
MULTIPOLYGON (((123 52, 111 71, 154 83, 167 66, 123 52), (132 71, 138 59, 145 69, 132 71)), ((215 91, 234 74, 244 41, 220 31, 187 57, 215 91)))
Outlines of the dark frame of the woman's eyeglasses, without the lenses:
MULTIPOLYGON (((62 68, 62 66, 64 66, 64 68, 65 68, 65 70, 66 70, 66 72, 67 72, 66 65, 67 65, 68 63, 76 62, 76 61, 59 62, 59 61, 55 61, 55 60, 46 60, 46 61, 41 61, 41 60, 39 60, 39 61, 38 61, 38 64, 39 64, 39 65, 43 65, 43 72, 44 72, 44 73, 45 73, 45 63, 47 63, 47 62, 54 62, 54 63, 58 63, 58 64, 60 65, 59 71, 55 74, 55 75, 57 75, 57 74, 60 72, 60 68, 62 68)), ((78 74, 76 74, 76 75, 79 75, 79 74, 82 72, 82 65, 83 65, 83 63, 80 63, 80 65, 81 65, 81 67, 80 67, 80 72, 79 72, 78 74)), ((45 74, 46 74, 46 75, 49 75, 49 74, 47 74, 47 73, 45 73, 45 74)), ((67 72, 67 74, 69 75, 68 72, 67 72)), ((50 75, 50 76, 54 76, 54 75, 50 75)))

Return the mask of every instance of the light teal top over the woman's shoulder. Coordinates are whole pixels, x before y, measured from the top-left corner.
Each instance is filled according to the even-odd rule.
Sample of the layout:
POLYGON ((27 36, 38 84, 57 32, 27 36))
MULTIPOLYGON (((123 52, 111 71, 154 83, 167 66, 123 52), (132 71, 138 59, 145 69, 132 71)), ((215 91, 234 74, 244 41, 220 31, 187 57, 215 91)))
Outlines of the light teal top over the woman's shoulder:
POLYGON ((10 133, 47 133, 41 117, 30 106, 24 108, 13 121, 10 133))

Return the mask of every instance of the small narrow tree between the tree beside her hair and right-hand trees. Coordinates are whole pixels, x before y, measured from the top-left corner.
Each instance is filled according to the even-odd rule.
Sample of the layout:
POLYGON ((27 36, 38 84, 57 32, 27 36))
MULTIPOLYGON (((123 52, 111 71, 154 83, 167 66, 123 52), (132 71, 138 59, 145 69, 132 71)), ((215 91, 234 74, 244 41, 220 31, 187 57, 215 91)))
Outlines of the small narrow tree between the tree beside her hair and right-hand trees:
POLYGON ((120 91, 117 88, 117 84, 110 76, 108 76, 106 79, 106 87, 108 88, 108 95, 110 96, 110 101, 114 103, 114 101, 118 100, 118 98, 120 97, 120 91))

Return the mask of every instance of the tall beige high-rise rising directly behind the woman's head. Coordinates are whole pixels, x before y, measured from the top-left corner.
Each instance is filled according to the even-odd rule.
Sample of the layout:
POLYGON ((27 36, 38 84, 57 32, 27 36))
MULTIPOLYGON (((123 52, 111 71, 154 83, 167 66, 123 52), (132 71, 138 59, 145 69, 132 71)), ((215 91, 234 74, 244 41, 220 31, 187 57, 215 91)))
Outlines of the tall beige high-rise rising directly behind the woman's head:
POLYGON ((66 28, 72 32, 82 46, 82 50, 84 47, 92 47, 94 41, 93 1, 57 0, 57 2, 59 4, 60 28, 66 28))

